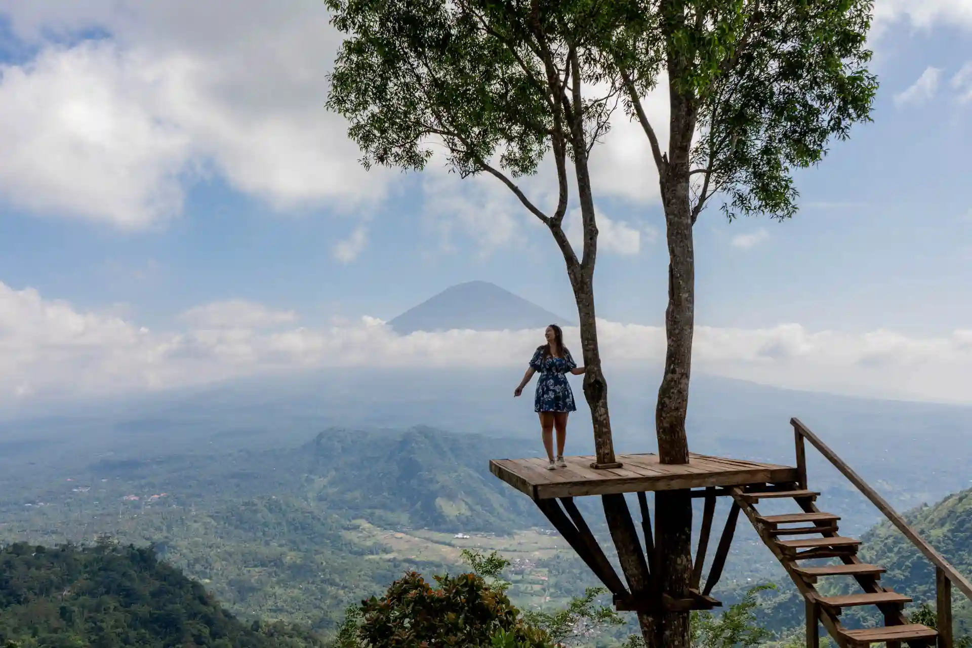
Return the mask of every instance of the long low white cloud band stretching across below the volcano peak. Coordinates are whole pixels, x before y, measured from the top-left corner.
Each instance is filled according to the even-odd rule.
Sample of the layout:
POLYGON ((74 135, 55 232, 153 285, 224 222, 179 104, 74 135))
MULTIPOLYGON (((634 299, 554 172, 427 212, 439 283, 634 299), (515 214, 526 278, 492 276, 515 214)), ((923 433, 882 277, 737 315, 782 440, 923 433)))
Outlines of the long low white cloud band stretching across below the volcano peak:
MULTIPOLYGON (((0 284, 0 403, 184 387, 276 369, 362 366, 374 358, 383 366, 512 370, 540 335, 453 330, 402 337, 373 318, 329 328, 280 328, 294 319, 259 304, 222 302, 192 309, 183 318, 185 330, 150 331, 0 284)), ((576 328, 565 334, 579 346, 576 328)), ((599 337, 608 365, 664 358, 661 327, 601 321, 599 337)), ((919 338, 888 330, 813 332, 799 324, 700 325, 693 358, 702 372, 791 389, 972 403, 966 380, 972 330, 919 338)))

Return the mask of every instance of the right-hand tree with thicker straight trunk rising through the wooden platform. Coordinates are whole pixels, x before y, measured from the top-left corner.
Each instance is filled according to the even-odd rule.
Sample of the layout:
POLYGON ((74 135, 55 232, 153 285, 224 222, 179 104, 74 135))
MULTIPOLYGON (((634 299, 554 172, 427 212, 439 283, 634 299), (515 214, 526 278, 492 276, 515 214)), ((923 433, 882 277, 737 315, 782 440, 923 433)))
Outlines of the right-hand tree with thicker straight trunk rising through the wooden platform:
MULTIPOLYGON (((871 0, 618 0, 603 78, 642 125, 658 172, 669 249, 667 351, 655 428, 665 463, 688 461, 695 315, 692 227, 709 202, 740 215, 797 211, 791 170, 818 163, 833 139, 869 120, 877 81, 866 69, 871 0), (642 97, 667 76, 668 150, 642 97)), ((691 574, 691 500, 655 497, 663 590, 683 596, 691 574)), ((663 615, 659 646, 688 645, 688 615, 663 615)))

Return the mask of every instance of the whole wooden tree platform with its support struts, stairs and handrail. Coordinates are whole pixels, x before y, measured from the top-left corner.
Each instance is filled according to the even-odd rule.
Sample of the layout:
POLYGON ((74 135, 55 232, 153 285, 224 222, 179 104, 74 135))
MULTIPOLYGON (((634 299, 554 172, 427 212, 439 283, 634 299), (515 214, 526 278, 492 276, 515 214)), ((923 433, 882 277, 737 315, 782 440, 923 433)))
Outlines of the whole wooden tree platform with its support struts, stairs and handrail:
MULTIPOLYGON (((571 545, 581 560, 608 588, 617 610, 656 614, 662 611, 707 610, 721 605, 711 596, 718 583, 733 542, 740 516, 752 523, 760 539, 781 563, 806 603, 808 648, 819 646, 819 626, 840 648, 867 648, 884 644, 886 648, 954 648, 952 587, 972 600, 972 582, 958 573, 934 548, 908 526, 885 499, 868 486, 807 426, 791 420, 796 441, 796 466, 731 460, 707 455, 691 455, 684 465, 662 464, 656 455, 618 455, 620 467, 593 468, 593 457, 568 457, 567 467, 546 469, 540 459, 491 460, 490 471, 504 482, 533 498, 539 510, 571 545), (829 460, 857 490, 874 503, 885 517, 911 540, 935 565, 936 622, 934 628, 912 623, 904 612, 911 597, 881 584, 885 567, 869 564, 857 557, 861 541, 845 537, 838 530, 840 516, 816 507, 815 491, 808 490, 805 442, 829 460), (694 489, 694 490, 693 490, 694 489), (704 497, 702 527, 692 561, 688 588, 676 597, 663 591, 664 549, 657 544, 652 529, 647 492, 688 490, 693 497, 704 497), (626 493, 638 495, 641 534, 629 510, 626 493), (575 496, 602 495, 606 520, 619 551, 622 575, 608 561, 591 532, 575 496), (703 583, 703 567, 716 501, 720 496, 730 508, 725 528, 712 557, 709 577, 703 583), (757 510, 760 502, 771 500, 776 507, 793 502, 786 513, 765 515, 757 510), (641 535, 641 537, 639 537, 641 535), (621 543, 620 545, 618 543, 621 543), (831 563, 817 563, 830 559, 831 563), (813 561, 814 563, 807 563, 813 561), (819 580, 832 576, 850 578, 858 592, 826 596, 816 589, 819 580), (873 606, 884 616, 884 625, 850 628, 842 624, 841 612, 850 607, 873 606)), ((761 505, 761 504, 760 504, 761 505)))

